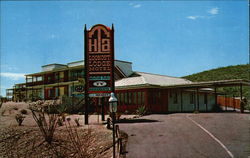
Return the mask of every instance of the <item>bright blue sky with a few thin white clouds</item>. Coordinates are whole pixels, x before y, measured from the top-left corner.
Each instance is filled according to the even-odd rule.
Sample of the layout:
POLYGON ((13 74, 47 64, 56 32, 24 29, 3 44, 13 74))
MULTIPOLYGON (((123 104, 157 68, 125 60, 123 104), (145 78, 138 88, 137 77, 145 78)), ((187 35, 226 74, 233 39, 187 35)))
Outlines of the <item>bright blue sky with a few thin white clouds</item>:
POLYGON ((182 77, 249 61, 249 5, 231 1, 0 1, 0 95, 52 63, 83 60, 84 25, 115 29, 115 58, 182 77))

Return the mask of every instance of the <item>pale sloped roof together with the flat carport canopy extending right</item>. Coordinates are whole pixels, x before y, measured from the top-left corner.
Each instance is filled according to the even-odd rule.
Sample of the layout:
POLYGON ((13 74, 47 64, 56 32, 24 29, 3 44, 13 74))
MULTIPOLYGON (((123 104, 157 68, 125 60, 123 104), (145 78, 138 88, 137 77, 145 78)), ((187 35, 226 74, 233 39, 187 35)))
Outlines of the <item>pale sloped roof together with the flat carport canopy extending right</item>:
POLYGON ((202 88, 211 91, 214 87, 226 86, 250 86, 249 80, 232 79, 207 82, 192 82, 184 78, 165 75, 135 72, 131 77, 123 78, 115 82, 117 89, 134 87, 162 87, 162 88, 202 88))

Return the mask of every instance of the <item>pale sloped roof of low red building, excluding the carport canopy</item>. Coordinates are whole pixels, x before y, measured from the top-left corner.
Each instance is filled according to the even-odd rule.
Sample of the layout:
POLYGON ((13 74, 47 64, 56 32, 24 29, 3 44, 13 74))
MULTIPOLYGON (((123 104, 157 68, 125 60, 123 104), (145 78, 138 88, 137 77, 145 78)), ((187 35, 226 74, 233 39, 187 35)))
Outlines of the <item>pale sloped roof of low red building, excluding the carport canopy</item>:
POLYGON ((189 84, 191 81, 179 77, 135 72, 131 77, 123 78, 115 82, 116 88, 138 86, 170 86, 177 84, 189 84))

